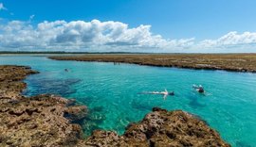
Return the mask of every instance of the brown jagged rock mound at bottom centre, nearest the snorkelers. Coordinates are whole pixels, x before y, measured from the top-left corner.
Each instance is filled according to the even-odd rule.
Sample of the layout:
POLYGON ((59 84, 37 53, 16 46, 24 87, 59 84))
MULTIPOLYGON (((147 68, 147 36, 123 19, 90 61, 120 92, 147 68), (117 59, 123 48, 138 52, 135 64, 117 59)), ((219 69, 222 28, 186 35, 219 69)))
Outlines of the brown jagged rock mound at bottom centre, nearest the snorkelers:
POLYGON ((141 122, 131 123, 124 135, 94 131, 86 140, 89 146, 224 146, 229 144, 205 122, 181 111, 153 108, 141 122))

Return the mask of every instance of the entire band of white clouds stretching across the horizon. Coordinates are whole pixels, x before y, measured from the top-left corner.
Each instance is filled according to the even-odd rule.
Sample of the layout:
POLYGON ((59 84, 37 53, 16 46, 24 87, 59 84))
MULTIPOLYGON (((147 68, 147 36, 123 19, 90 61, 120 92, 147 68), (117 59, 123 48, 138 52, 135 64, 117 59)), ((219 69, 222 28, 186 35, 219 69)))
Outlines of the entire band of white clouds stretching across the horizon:
POLYGON ((255 44, 256 33, 253 32, 229 32, 216 40, 170 40, 153 34, 151 25, 129 27, 113 21, 54 21, 35 25, 30 21, 11 21, 0 24, 0 50, 256 52, 255 44))

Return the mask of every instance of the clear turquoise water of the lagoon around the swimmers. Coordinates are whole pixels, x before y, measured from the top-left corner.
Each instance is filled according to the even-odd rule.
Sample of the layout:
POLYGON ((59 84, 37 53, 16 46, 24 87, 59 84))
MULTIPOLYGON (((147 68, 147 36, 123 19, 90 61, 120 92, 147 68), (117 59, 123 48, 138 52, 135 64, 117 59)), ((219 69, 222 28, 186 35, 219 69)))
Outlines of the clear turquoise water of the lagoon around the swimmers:
MULTIPOLYGON (((0 64, 28 65, 41 73, 27 77, 25 94, 57 93, 90 108, 84 131, 96 128, 123 133, 160 106, 200 116, 232 146, 256 146, 256 74, 196 71, 131 64, 57 61, 46 57, 0 57, 0 64), (68 69, 69 72, 64 72, 68 69), (201 95, 192 84, 207 90, 201 95), (175 96, 142 91, 174 90, 175 96)), ((90 133, 90 132, 88 132, 90 133)))

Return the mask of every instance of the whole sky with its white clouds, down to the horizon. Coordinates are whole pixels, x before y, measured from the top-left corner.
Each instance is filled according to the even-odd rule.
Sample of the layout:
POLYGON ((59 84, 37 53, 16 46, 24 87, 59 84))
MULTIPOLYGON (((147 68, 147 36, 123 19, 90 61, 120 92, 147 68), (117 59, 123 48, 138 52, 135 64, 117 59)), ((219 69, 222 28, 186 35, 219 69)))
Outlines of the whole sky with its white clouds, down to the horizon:
POLYGON ((0 51, 256 52, 255 0, 0 0, 0 51))

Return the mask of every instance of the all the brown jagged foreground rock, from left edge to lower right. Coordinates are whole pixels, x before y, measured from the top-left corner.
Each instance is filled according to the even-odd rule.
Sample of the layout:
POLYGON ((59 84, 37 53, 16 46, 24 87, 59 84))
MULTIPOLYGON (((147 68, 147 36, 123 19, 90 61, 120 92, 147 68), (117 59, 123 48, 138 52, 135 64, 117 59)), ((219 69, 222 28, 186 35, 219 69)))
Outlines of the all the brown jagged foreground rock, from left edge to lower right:
POLYGON ((89 113, 75 100, 56 95, 25 97, 22 82, 37 73, 24 66, 0 66, 0 146, 230 146, 205 122, 187 112, 153 108, 122 136, 95 130, 82 139, 75 124, 89 113))

